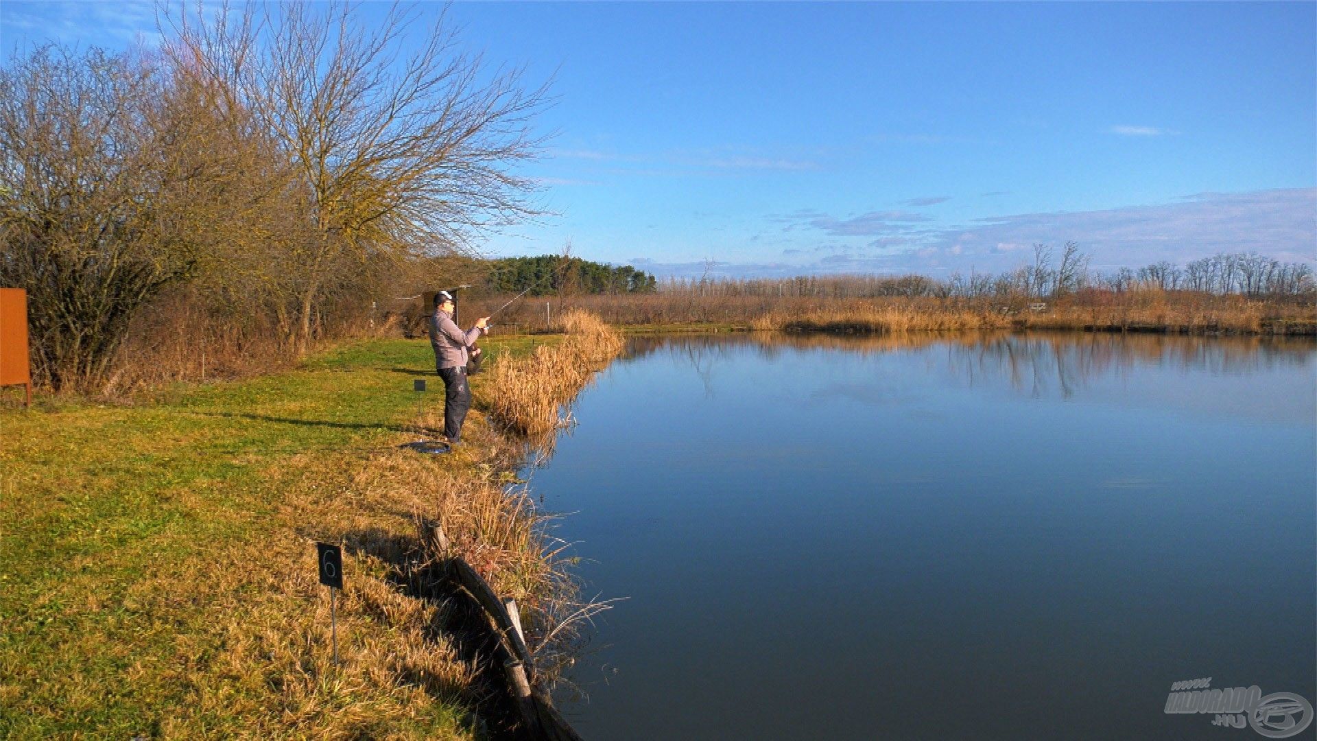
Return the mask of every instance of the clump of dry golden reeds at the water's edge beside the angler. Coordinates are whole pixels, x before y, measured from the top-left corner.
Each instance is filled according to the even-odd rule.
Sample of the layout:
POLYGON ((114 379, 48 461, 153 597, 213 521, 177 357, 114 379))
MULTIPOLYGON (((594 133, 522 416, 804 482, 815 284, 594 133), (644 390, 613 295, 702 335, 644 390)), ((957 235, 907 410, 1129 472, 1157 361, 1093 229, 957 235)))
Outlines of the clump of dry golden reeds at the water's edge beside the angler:
POLYGON ((519 435, 537 436, 566 423, 565 407, 595 370, 622 352, 622 334, 597 315, 572 310, 558 318, 562 341, 527 357, 500 359, 490 370, 482 401, 494 421, 519 435))

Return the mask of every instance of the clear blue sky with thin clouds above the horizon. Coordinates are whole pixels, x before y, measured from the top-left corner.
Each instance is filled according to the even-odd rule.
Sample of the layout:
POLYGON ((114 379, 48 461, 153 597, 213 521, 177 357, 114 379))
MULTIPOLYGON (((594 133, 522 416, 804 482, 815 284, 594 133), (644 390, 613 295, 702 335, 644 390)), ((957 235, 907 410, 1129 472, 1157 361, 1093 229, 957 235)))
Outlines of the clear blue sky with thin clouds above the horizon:
MULTIPOLYGON (((365 5, 367 16, 382 5, 365 5)), ((424 16, 443 7, 423 4, 424 16)), ((552 78, 524 171, 553 215, 491 254, 660 274, 1314 261, 1317 4, 456 4, 552 78)), ((122 46, 149 4, 0 5, 4 49, 122 46)))

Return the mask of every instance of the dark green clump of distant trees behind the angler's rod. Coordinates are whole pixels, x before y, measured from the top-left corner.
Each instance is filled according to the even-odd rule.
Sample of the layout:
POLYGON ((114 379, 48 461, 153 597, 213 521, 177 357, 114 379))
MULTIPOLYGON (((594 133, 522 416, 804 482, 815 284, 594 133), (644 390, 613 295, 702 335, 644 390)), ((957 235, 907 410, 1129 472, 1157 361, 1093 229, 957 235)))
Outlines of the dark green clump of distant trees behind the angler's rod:
POLYGON ((486 285, 491 290, 524 290, 529 295, 653 293, 657 289, 653 276, 631 265, 612 266, 552 254, 494 260, 486 285))

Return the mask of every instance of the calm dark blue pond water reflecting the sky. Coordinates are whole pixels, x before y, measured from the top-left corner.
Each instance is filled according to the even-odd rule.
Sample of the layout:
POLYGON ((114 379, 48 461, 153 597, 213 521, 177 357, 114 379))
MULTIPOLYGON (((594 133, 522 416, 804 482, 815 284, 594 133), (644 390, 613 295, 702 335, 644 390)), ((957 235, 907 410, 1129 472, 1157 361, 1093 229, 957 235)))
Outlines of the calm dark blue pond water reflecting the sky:
MULTIPOLYGON (((632 344, 532 487, 598 618, 589 738, 1251 738, 1317 700, 1317 345, 632 344)), ((1309 729, 1310 730, 1310 729, 1309 729)), ((1310 736, 1304 736, 1310 737, 1310 736)))

